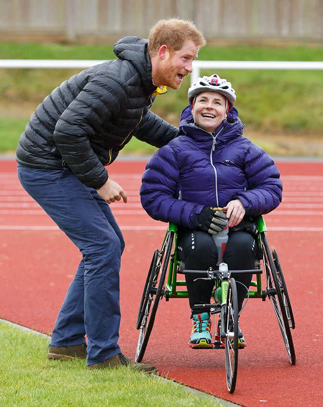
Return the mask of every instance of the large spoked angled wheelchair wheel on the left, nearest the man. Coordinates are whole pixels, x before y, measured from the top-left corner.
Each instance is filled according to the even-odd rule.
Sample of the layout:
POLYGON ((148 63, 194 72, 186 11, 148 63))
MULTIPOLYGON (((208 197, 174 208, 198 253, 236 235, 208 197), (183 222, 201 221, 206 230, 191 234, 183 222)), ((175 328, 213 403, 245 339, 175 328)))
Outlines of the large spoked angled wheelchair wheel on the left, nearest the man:
POLYGON ((160 251, 155 251, 151 261, 137 320, 137 329, 139 329, 139 338, 135 357, 137 362, 140 362, 144 356, 159 301, 165 294, 164 283, 171 257, 173 241, 174 232, 168 231, 165 236, 162 249, 160 249, 160 251))

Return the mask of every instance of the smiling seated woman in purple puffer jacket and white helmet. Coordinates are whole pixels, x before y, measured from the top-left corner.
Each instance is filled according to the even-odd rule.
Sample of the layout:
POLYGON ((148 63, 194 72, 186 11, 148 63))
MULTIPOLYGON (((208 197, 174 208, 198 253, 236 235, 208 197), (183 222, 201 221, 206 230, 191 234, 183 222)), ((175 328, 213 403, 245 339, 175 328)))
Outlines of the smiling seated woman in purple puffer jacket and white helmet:
MULTIPOLYGON (((192 270, 217 265, 212 234, 225 223, 223 213, 213 207, 223 207, 229 226, 223 260, 229 270, 253 269, 257 245, 244 222, 279 205, 278 169, 262 148, 243 136, 244 125, 233 108, 236 96, 229 82, 217 74, 198 78, 188 90, 188 100, 181 114, 181 135, 160 148, 147 164, 140 189, 142 206, 153 219, 179 226, 178 256, 192 270)), ((185 277, 192 312, 188 344, 212 347, 210 315, 195 304, 210 303, 214 284, 194 282, 198 277, 185 277)), ((240 310, 252 275, 233 277, 240 310)), ((244 347, 240 336, 239 346, 244 347)))

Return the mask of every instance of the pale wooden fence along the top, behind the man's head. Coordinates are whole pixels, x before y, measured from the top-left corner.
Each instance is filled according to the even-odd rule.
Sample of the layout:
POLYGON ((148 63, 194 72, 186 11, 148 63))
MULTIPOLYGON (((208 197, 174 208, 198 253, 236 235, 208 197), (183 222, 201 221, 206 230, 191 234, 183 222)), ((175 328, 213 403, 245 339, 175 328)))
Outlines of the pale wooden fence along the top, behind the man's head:
POLYGON ((323 40, 323 0, 0 0, 0 39, 147 36, 174 16, 208 39, 323 40))

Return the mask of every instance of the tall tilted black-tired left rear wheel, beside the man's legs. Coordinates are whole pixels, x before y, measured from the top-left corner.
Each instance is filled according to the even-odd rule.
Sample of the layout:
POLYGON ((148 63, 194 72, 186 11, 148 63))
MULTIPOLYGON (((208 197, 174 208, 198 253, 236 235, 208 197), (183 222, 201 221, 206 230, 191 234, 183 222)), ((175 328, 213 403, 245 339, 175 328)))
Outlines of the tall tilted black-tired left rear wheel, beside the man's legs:
POLYGON ((137 362, 141 362, 144 356, 148 340, 151 334, 151 330, 153 327, 153 323, 155 320, 159 301, 164 295, 164 282, 168 270, 169 260, 171 257, 173 241, 174 241, 174 232, 170 231, 167 232, 163 242, 162 249, 158 253, 154 273, 155 278, 152 278, 153 282, 151 284, 150 291, 147 292, 148 296, 147 305, 144 309, 142 321, 139 327, 140 332, 135 357, 135 360, 137 362), (162 271, 160 272, 160 277, 158 280, 158 274, 160 269, 162 269, 162 271))

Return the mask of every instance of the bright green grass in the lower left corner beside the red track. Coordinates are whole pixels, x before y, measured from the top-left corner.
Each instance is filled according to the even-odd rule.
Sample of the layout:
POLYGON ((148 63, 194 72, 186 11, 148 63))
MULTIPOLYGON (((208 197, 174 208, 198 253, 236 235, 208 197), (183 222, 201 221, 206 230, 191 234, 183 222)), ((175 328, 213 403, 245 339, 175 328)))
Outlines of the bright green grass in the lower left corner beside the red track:
POLYGON ((1 321, 0 341, 0 405, 220 405, 129 368, 90 371, 84 360, 49 360, 48 339, 1 321))

